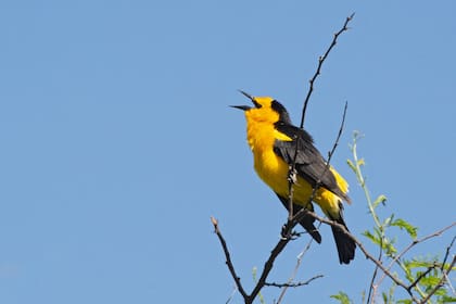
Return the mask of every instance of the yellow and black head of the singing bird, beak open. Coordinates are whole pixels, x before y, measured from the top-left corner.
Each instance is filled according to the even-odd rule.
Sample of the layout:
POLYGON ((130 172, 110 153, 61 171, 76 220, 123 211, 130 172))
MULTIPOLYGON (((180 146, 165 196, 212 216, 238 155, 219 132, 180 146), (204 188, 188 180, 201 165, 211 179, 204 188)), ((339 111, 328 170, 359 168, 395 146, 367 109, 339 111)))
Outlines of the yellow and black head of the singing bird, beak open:
POLYGON ((240 91, 250 99, 251 105, 231 105, 232 107, 244 111, 248 122, 263 122, 269 124, 286 123, 291 124, 287 109, 277 100, 270 97, 253 97, 244 91, 240 91))

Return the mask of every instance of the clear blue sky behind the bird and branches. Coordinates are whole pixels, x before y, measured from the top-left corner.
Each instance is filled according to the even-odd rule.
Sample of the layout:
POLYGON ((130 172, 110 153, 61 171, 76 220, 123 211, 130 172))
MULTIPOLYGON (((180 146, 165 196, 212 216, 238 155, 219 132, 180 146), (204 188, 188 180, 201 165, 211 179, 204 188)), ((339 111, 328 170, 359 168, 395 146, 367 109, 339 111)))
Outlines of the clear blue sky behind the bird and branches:
MULTIPOLYGON (((345 164, 360 130, 372 195, 423 236, 456 215, 454 1, 3 1, 0 302, 225 303, 233 282, 211 215, 250 289, 286 213, 228 105, 246 102, 238 89, 273 96, 299 122, 317 58, 352 12, 306 128, 326 154, 349 101, 332 162, 351 183, 349 227, 364 240, 371 226, 345 164)), ((452 235, 413 254, 442 254, 452 235)), ((340 266, 328 227, 322 237, 299 279, 325 278, 286 303, 339 290, 359 302, 372 265, 358 251, 340 266)))

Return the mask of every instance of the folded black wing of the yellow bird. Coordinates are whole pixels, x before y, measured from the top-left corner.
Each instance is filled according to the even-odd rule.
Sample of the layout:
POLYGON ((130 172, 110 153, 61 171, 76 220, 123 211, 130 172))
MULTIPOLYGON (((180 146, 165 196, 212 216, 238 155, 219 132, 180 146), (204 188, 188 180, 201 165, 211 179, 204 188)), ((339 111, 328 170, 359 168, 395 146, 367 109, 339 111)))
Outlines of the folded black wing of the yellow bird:
POLYGON ((317 180, 320 179, 321 187, 350 201, 349 197, 339 188, 334 175, 329 169, 326 169, 326 161, 314 147, 314 141, 308 132, 283 123, 277 123, 276 128, 293 139, 292 141, 276 140, 274 152, 277 155, 282 157, 288 164, 292 164, 297 144, 295 162, 297 175, 311 183, 312 187, 315 187, 317 180))

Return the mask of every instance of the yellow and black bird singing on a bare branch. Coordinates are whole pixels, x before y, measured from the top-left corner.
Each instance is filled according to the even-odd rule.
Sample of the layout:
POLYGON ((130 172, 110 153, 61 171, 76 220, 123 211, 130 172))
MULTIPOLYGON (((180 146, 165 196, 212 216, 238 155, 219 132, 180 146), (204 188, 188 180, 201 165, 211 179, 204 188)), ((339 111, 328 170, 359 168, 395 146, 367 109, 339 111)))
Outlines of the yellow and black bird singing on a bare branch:
MULTIPOLYGON (((318 179, 320 187, 315 193, 314 202, 331 219, 343 225, 342 201, 351 203, 347 195, 349 183, 327 163, 315 148, 311 135, 302 128, 293 126, 284 106, 270 97, 248 97, 253 106, 232 105, 245 113, 246 139, 253 152, 254 168, 258 176, 279 197, 283 206, 289 208, 289 165, 295 160, 297 180, 293 186, 293 213, 306 207, 314 211, 308 199, 318 179), (297 154, 295 155, 295 153, 297 154)), ((300 224, 317 241, 321 236, 314 226, 312 216, 304 217, 300 224)), ((355 242, 340 229, 331 226, 339 262, 349 264, 355 257, 355 242)))

